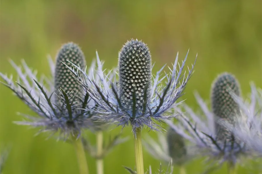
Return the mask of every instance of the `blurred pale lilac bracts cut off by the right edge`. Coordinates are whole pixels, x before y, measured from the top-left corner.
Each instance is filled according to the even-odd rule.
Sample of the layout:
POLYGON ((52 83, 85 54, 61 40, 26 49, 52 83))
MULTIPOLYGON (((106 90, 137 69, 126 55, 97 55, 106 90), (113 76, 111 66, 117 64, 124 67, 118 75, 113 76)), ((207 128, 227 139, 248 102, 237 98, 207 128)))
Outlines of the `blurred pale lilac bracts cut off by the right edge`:
POLYGON ((234 126, 227 120, 220 120, 221 125, 233 132, 235 138, 245 143, 246 148, 262 157, 262 90, 251 84, 250 97, 244 101, 232 93, 241 112, 235 119, 234 126))

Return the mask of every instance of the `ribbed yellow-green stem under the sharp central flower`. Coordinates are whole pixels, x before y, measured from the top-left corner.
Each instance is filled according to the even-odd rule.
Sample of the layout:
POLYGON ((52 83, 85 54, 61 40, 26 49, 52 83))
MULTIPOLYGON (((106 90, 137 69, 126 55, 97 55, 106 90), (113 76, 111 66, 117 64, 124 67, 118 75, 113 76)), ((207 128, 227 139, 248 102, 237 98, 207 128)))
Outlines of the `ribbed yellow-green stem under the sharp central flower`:
POLYGON ((142 152, 142 138, 141 128, 136 128, 134 142, 135 142, 135 163, 137 174, 144 174, 143 152, 142 152))

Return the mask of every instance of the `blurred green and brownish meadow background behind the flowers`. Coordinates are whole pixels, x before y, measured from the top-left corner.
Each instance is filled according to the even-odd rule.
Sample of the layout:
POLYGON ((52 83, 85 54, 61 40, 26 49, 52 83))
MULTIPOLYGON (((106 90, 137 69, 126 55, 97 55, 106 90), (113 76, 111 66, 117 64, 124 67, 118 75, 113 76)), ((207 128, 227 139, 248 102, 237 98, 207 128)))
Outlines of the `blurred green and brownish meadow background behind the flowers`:
MULTIPOLYGON (((1 72, 16 74, 9 59, 50 77, 47 54, 54 59, 64 42, 78 43, 87 63, 95 58, 95 50, 104 67, 117 66, 118 51, 130 38, 146 42, 151 50, 153 69, 171 65, 179 51, 181 62, 190 48, 187 65, 198 59, 190 79, 186 103, 196 109, 196 90, 209 102, 213 79, 221 72, 236 75, 242 93, 250 91, 250 81, 261 87, 261 1, 258 0, 167 0, 167 1, 1 1, 1 72)), ((33 114, 12 92, 1 85, 1 149, 10 146, 5 174, 71 174, 78 173, 74 148, 66 142, 56 142, 46 134, 35 136, 37 129, 17 126, 22 120, 17 112, 33 114)), ((108 136, 116 135, 115 128, 108 136)), ((95 142, 95 136, 87 132, 95 142)), ((148 130, 143 135, 156 133, 148 130)), ((105 158, 105 173, 127 173, 124 166, 135 167, 131 128, 123 130, 129 141, 117 146, 105 158)), ((87 157, 90 173, 95 173, 95 161, 87 157)), ((156 171, 159 162, 144 150, 144 165, 156 171)), ((188 165, 188 173, 200 173, 205 164, 196 161, 188 165)), ((176 169, 176 168, 175 168, 176 169)), ((225 166, 214 173, 226 172, 225 166)), ((250 173, 239 168, 238 173, 250 173)), ((252 172, 251 172, 252 173, 252 172)), ((256 173, 256 172, 255 172, 256 173)), ((258 171, 257 171, 258 173, 258 171)))

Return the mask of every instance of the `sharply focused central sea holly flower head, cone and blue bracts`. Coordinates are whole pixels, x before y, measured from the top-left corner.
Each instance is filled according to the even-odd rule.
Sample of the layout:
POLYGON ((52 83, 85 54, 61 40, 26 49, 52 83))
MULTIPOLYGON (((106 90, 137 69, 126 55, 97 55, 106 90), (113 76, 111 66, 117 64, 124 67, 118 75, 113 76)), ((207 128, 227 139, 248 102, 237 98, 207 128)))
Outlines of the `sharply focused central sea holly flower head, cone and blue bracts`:
MULTIPOLYGON (((131 40, 123 46, 121 51, 123 50, 125 50, 125 52, 120 52, 119 56, 125 55, 126 57, 123 60, 130 59, 130 61, 120 63, 121 60, 118 60, 118 64, 120 66, 130 67, 130 69, 126 69, 127 71, 125 71, 122 67, 118 67, 119 70, 123 70, 120 73, 129 73, 125 76, 120 74, 119 76, 121 76, 121 78, 126 79, 121 80, 121 78, 119 78, 119 83, 116 83, 116 80, 110 81, 108 76, 104 74, 98 54, 98 69, 94 74, 99 76, 99 82, 88 76, 85 71, 77 65, 75 65, 77 71, 71 69, 72 73, 74 73, 82 87, 97 103, 98 106, 95 109, 95 113, 99 116, 99 119, 114 122, 123 127, 131 125, 133 132, 135 128, 143 126, 157 129, 156 127, 158 124, 156 124, 155 121, 159 122, 176 116, 176 114, 165 115, 165 112, 169 111, 172 106, 180 103, 176 103, 176 101, 182 95, 182 91, 191 77, 194 64, 192 65, 191 70, 188 69, 188 75, 182 73, 188 53, 186 54, 181 67, 178 63, 177 54, 173 68, 169 68, 170 72, 165 73, 165 76, 160 78, 160 73, 165 66, 162 67, 156 73, 156 76, 153 77, 151 83, 151 56, 146 44, 138 40, 131 40), (141 69, 139 69, 140 65, 135 67, 138 62, 142 65, 141 69), (145 67, 143 67, 144 65, 145 67), (179 69, 177 69, 177 66, 179 69), (141 77, 136 78, 136 75, 133 74, 136 70, 138 73, 141 72, 141 75, 144 73, 143 78, 147 79, 141 79, 141 77), (127 79, 128 75, 132 78, 127 79), (131 81, 132 79, 134 81, 131 81), (167 80, 166 85, 161 85, 164 79, 167 80), (138 86, 140 83, 136 82, 136 80, 141 80, 145 83, 138 86), (89 87, 89 83, 91 83, 93 87, 89 87), (141 89, 139 89, 140 87, 141 89), (124 93, 122 93, 123 90, 124 93)), ((119 57, 119 59, 122 58, 119 57)))

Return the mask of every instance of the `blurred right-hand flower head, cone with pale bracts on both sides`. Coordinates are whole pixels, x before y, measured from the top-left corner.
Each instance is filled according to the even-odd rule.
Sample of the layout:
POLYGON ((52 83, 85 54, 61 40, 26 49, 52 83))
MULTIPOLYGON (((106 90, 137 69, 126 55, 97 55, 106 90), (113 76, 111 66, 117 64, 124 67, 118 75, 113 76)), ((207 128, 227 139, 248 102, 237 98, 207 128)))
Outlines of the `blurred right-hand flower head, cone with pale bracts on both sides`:
MULTIPOLYGON (((243 156, 245 159, 253 158, 253 151, 261 147, 262 139, 261 121, 253 122, 261 119, 261 115, 255 116, 261 114, 255 109, 256 96, 259 101, 257 103, 262 103, 261 97, 259 99, 254 91, 256 90, 253 89, 250 104, 242 102, 238 82, 233 75, 223 73, 212 87, 212 111, 196 94, 200 112, 195 113, 187 105, 183 105, 182 109, 175 107, 175 112, 183 113, 177 117, 179 124, 170 121, 167 123, 191 142, 187 148, 190 149, 190 155, 199 155, 201 158, 206 156, 208 160, 215 160, 213 164, 217 164, 218 160, 219 165, 224 162, 235 164, 240 162, 243 156), (220 129, 217 132, 215 128, 220 129)), ((257 151, 261 153, 261 150, 257 151)))

